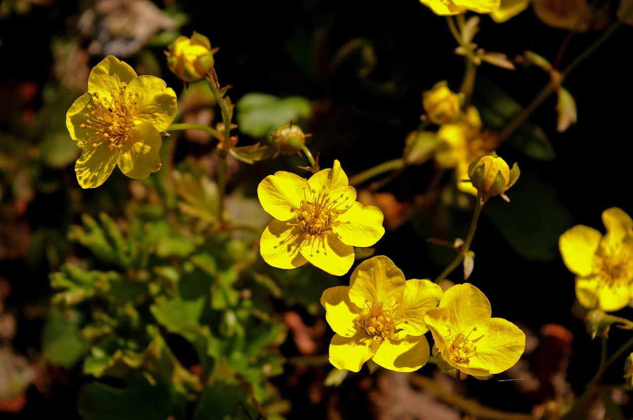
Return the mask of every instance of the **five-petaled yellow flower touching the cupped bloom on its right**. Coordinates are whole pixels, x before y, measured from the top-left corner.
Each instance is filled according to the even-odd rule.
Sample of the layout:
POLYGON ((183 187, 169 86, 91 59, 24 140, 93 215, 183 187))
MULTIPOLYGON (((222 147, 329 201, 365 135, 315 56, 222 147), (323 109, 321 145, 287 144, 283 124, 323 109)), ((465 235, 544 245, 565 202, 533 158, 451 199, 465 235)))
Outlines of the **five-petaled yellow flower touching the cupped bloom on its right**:
POLYGON ((383 368, 411 372, 429 359, 429 330, 423 317, 437 306, 439 285, 429 280, 404 280, 386 256, 363 261, 348 286, 330 287, 321 304, 336 333, 330 343, 330 363, 358 372, 372 359, 383 368))

